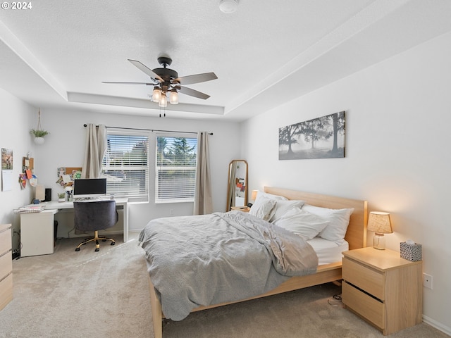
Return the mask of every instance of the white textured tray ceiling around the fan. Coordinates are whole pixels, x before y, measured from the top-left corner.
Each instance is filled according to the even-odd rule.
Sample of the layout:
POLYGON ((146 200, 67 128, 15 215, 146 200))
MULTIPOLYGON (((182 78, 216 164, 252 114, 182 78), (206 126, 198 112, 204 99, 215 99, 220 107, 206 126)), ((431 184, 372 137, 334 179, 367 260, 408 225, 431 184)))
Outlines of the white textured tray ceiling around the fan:
MULTIPOLYGON (((39 0, 0 11, 0 87, 41 108, 158 116, 149 68, 163 54, 187 87, 172 118, 243 120, 451 30, 448 0, 39 0), (281 6, 283 4, 283 6, 281 6)), ((12 4, 12 3, 10 3, 12 4)))

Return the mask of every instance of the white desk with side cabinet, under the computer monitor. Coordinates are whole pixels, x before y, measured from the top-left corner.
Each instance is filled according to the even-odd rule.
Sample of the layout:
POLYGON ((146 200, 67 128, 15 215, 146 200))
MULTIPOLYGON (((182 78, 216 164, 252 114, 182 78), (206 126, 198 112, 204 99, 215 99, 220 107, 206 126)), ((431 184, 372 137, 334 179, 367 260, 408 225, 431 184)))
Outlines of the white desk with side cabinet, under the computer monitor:
MULTIPOLYGON (((58 211, 73 209, 73 202, 44 202, 40 213, 20 214, 20 256, 54 253, 54 216, 58 211)), ((123 238, 128 242, 128 199, 116 199, 116 208, 123 210, 123 238)))

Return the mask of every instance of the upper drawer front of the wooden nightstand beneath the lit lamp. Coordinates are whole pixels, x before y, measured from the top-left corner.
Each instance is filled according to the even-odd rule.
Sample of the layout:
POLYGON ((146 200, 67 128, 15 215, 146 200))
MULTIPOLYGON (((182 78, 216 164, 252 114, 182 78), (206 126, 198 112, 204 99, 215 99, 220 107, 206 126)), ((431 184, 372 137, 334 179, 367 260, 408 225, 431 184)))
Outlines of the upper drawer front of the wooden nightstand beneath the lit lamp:
POLYGON ((385 299, 383 274, 376 270, 345 257, 343 258, 342 278, 378 299, 385 299))

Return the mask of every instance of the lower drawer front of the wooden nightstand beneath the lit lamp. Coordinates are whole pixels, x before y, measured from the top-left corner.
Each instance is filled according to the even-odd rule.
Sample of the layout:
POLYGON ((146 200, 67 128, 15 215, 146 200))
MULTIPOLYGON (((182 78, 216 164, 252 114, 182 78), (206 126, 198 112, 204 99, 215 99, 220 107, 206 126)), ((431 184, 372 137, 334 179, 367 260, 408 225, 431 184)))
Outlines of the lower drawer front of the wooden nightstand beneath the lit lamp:
POLYGON ((384 328, 384 304, 381 301, 373 299, 347 282, 342 283, 342 301, 377 327, 384 328))

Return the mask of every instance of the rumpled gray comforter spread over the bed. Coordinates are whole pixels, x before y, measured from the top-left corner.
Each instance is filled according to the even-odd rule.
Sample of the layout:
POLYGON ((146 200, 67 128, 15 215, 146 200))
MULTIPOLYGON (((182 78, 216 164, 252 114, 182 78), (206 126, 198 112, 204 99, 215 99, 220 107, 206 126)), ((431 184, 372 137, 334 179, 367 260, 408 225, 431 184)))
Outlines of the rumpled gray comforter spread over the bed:
POLYGON ((140 233, 166 318, 268 292, 290 276, 316 272, 301 237, 239 211, 152 220, 140 233))

